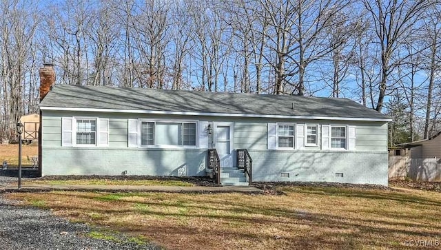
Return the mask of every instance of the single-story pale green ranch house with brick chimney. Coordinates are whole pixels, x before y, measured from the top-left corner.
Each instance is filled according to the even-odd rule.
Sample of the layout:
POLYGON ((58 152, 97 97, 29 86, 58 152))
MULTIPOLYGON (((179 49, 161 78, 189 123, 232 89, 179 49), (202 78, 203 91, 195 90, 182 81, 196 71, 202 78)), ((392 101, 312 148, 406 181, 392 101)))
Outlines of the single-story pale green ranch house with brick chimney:
POLYGON ((345 98, 52 87, 52 65, 40 75, 43 176, 204 176, 216 149, 220 182, 247 185, 236 169, 247 149, 253 181, 387 185, 390 119, 345 98))

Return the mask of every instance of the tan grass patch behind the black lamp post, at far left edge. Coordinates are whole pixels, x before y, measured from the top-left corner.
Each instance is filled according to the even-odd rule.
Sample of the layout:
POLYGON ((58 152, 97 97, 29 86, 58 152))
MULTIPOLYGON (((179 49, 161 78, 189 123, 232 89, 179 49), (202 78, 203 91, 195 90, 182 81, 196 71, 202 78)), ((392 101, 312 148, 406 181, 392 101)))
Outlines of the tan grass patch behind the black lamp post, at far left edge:
MULTIPOLYGON (((23 145, 21 147, 21 163, 23 165, 32 165, 32 160, 28 157, 37 156, 39 154, 38 145, 23 145)), ((0 164, 6 160, 8 165, 19 165, 19 145, 0 145, 0 164)))

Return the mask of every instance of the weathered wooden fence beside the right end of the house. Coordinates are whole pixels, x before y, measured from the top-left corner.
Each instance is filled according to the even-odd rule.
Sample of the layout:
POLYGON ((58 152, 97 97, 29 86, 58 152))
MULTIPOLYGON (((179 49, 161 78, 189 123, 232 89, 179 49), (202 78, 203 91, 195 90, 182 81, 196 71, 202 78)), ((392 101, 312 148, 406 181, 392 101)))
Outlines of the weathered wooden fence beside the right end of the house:
POLYGON ((438 158, 389 156, 389 180, 410 178, 413 181, 441 181, 438 158))

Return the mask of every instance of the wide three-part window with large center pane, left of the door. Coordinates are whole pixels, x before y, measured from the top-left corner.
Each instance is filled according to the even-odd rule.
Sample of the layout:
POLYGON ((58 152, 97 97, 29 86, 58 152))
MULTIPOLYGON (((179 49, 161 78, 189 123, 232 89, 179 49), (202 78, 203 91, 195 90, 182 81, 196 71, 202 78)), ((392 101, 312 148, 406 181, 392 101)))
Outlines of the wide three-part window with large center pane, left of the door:
POLYGON ((196 146, 196 123, 141 121, 141 145, 196 146))

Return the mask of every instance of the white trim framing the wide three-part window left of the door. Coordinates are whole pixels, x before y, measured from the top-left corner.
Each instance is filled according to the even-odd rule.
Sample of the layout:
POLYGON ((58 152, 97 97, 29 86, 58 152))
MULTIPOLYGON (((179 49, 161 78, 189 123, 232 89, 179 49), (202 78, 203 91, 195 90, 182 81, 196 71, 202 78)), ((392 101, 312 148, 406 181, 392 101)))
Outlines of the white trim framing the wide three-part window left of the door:
MULTIPOLYGON (((199 145, 199 126, 198 126, 199 121, 198 120, 172 120, 172 119, 147 119, 147 118, 138 118, 138 147, 139 148, 158 148, 158 149, 197 149, 198 145, 199 145), (156 123, 194 123, 196 125, 196 145, 192 146, 192 145, 141 145, 141 138, 142 138, 142 134, 141 134, 141 124, 142 123, 154 123, 154 132, 156 132, 156 123)), ((183 126, 181 127, 181 129, 183 129, 183 126)), ((153 135, 154 136, 154 135, 153 135)), ((183 134, 182 134, 183 136, 183 134)), ((183 138, 181 138, 181 140, 183 140, 183 138)), ((156 143, 154 141, 154 143, 156 143)), ((181 141, 181 143, 183 143, 181 141)))

